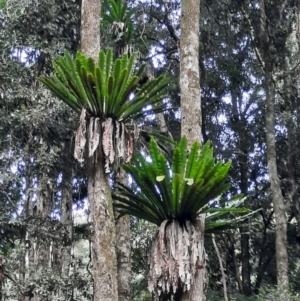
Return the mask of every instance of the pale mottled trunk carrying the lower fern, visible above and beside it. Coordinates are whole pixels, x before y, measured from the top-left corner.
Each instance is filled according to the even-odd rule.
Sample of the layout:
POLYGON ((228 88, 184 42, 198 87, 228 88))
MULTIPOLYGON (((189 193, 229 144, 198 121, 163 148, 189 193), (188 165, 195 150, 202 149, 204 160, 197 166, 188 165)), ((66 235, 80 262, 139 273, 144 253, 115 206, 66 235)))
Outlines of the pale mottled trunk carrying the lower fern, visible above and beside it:
MULTIPOLYGON (((181 2, 181 36, 180 36, 180 94, 181 94, 181 136, 186 136, 188 147, 195 141, 201 142, 201 97, 199 71, 199 23, 200 1, 182 0, 181 2)), ((189 292, 183 294, 184 301, 206 300, 208 283, 205 250, 204 226, 205 216, 199 217, 198 229, 201 233, 202 256, 198 259, 199 268, 189 292)))

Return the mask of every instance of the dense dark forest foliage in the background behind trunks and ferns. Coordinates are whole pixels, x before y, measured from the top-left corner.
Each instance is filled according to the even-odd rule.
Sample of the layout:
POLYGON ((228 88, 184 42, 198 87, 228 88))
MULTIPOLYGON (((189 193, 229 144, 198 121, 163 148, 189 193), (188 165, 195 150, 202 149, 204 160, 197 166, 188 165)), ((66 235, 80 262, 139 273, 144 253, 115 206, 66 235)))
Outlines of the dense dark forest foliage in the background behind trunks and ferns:
MULTIPOLYGON (((228 295, 235 300, 276 300, 276 224, 266 161, 265 57, 261 55, 264 49, 258 22, 261 3, 267 14, 268 39, 273 41, 277 164, 288 219, 291 296, 300 292, 300 7, 295 1, 205 0, 201 1, 199 66, 203 139, 210 140, 218 161, 231 161, 231 188, 225 199, 242 193, 246 196, 243 206, 261 209, 240 229, 218 235, 228 295)), ((101 29, 101 46, 107 50, 114 48, 120 37, 110 22, 126 23, 128 29, 121 26, 127 33, 124 40, 130 40, 139 52, 137 65, 147 63, 148 77, 162 72, 169 76, 168 101, 164 103, 169 109, 164 112, 167 134, 157 116, 141 118, 138 123, 142 131, 170 134, 176 141, 180 136, 179 9, 179 1, 131 0, 126 8, 107 1, 103 13, 109 17, 101 29), (121 10, 129 15, 116 15, 121 10)), ((65 50, 76 57, 80 3, 0 1, 0 22, 2 299, 29 298, 38 289, 53 300, 67 300, 66 296, 91 300, 86 175, 73 159, 78 116, 38 81, 40 76, 53 74, 51 61, 62 57, 65 50), (42 258, 34 256, 37 246, 44 250, 42 258), (61 273, 65 267, 62 258, 69 258, 68 276, 61 273)), ((139 142, 136 150, 147 153, 149 141, 139 142)), ((157 176, 162 175, 167 173, 157 176)), ((155 227, 135 218, 131 226, 132 300, 151 300, 145 282, 146 256, 155 227)), ((222 275, 209 234, 205 243, 210 265, 208 299, 222 300, 222 275)))

